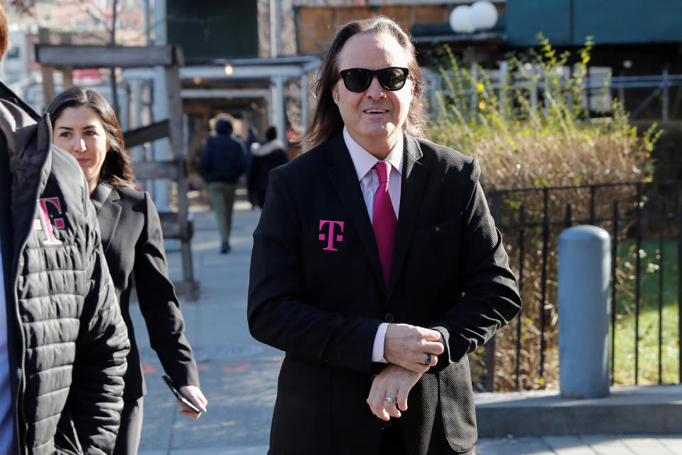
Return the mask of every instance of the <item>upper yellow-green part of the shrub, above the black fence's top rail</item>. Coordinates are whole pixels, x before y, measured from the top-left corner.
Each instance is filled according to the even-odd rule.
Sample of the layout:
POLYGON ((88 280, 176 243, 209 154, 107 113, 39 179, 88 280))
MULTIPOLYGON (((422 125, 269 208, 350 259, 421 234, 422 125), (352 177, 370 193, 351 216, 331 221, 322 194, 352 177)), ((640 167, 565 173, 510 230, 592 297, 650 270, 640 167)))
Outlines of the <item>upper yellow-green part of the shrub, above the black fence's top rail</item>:
POLYGON ((538 41, 538 50, 509 55, 507 76, 497 82, 482 68, 465 68, 446 47, 428 137, 478 159, 487 187, 649 180, 661 131, 654 126, 638 137, 617 100, 598 121, 583 107, 591 38, 573 65, 568 52, 557 55, 541 35, 538 41))

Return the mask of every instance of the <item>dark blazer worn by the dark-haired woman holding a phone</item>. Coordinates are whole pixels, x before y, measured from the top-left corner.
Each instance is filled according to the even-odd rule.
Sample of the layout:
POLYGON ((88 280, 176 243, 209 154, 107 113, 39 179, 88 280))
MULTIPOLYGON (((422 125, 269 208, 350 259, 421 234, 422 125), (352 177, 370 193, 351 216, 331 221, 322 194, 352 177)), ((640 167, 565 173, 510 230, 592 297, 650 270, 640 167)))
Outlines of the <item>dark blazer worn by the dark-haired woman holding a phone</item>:
POLYGON ((173 282, 168 279, 161 221, 149 194, 129 188, 114 189, 100 183, 90 200, 97 210, 104 256, 131 342, 128 371, 124 376, 124 398, 136 400, 146 394, 129 311, 133 284, 151 347, 156 350, 163 370, 178 387, 198 386, 197 364, 185 338, 185 321, 173 282))

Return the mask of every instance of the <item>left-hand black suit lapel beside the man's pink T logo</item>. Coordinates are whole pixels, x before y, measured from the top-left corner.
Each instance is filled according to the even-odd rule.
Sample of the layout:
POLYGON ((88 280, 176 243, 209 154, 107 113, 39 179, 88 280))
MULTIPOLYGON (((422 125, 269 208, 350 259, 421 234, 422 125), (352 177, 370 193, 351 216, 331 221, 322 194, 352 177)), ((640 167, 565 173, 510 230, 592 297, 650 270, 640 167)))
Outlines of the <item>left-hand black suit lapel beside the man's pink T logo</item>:
POLYGON ((384 275, 381 272, 381 261, 379 260, 379 250, 377 241, 374 240, 374 230, 369 221, 367 206, 364 205, 360 183, 357 181, 357 173, 353 166, 342 134, 337 134, 329 142, 328 149, 329 178, 335 188, 342 205, 350 216, 352 225, 357 230, 362 246, 369 262, 374 270, 374 278, 379 280, 381 287, 384 287, 384 275))

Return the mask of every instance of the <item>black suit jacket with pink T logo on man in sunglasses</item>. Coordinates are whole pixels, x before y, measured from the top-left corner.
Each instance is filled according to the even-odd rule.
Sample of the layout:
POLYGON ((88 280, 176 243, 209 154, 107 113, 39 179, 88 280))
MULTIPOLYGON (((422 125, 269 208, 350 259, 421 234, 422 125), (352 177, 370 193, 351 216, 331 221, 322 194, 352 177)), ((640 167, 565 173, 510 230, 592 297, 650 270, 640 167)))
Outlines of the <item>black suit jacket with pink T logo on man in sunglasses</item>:
POLYGON ((445 338, 438 365, 395 421, 410 453, 475 446, 467 354, 518 313, 521 299, 476 161, 404 140, 388 289, 341 134, 270 174, 254 232, 248 317, 257 340, 286 351, 271 454, 377 454, 382 422, 365 400, 384 367, 371 360, 384 321, 434 328, 445 338))

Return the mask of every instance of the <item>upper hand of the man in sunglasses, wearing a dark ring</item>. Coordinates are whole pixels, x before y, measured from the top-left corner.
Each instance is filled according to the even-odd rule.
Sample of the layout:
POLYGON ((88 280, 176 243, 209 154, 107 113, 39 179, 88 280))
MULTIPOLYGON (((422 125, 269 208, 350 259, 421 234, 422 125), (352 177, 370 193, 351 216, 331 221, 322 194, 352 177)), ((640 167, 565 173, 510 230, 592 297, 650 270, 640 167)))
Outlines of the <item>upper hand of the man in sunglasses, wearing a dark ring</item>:
POLYGON ((415 373, 425 373, 438 363, 438 355, 445 350, 442 339, 440 332, 430 328, 389 324, 384 336, 384 358, 415 373), (427 365, 428 354, 431 363, 427 365))

